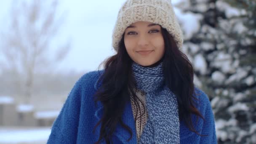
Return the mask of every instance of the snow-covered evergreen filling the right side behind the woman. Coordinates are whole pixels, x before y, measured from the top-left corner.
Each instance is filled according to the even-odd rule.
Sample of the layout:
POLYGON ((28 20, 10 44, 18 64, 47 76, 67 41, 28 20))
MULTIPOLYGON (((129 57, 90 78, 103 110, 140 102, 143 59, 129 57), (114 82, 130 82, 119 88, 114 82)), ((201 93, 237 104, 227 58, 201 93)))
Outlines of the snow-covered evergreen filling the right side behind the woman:
POLYGON ((180 1, 183 51, 211 100, 218 143, 256 143, 256 1, 180 1))

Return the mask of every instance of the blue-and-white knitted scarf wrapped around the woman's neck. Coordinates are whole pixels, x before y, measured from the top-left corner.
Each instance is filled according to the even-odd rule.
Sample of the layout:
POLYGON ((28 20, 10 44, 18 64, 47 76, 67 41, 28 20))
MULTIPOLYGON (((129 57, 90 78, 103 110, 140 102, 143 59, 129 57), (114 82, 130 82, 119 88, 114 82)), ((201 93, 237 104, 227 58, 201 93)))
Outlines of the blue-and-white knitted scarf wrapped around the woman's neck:
POLYGON ((136 88, 146 93, 147 123, 139 144, 179 144, 179 113, 174 93, 164 84, 163 62, 156 67, 133 63, 136 88))

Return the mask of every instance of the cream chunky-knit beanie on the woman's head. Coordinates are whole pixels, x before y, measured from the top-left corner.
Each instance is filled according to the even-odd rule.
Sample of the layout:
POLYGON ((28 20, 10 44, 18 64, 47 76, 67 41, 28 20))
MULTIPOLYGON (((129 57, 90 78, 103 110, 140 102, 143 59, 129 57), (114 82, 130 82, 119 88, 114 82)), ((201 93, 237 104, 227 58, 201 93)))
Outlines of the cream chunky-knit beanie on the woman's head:
POLYGON ((126 0, 118 12, 112 34, 112 46, 115 51, 117 51, 125 29, 136 21, 160 24, 173 36, 178 48, 182 47, 182 31, 171 0, 126 0))

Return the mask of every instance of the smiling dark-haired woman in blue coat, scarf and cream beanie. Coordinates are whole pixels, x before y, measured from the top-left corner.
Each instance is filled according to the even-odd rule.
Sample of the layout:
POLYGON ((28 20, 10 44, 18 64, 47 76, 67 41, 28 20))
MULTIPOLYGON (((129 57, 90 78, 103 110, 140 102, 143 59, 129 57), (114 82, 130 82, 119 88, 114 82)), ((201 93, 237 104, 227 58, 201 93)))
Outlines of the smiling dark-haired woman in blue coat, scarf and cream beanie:
POLYGON ((127 0, 112 38, 117 54, 77 81, 48 144, 216 144, 170 0, 127 0))

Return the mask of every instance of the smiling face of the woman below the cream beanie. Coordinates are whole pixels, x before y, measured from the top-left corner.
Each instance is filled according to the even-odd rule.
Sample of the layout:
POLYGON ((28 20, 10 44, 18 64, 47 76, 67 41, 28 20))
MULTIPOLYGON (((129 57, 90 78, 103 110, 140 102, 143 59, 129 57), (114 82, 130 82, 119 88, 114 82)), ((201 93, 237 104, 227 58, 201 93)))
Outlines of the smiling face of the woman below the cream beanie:
POLYGON ((159 61, 165 52, 161 26, 138 21, 125 29, 124 43, 128 55, 141 66, 159 61))

